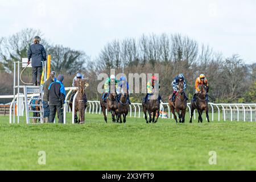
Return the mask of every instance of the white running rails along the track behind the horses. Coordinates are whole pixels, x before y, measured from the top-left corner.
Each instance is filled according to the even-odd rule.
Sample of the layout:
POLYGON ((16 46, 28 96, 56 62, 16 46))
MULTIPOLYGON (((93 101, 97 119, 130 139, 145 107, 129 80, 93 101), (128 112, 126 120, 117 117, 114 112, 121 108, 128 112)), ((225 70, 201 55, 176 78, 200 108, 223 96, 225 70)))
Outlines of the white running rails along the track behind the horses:
MULTIPOLYGON (((77 88, 65 88, 68 91, 67 96, 65 98, 66 104, 64 105, 64 123, 66 123, 66 113, 72 113, 72 123, 75 122, 75 113, 72 112, 70 107, 68 106, 68 98, 72 93, 72 90, 76 90, 77 88)), ((37 94, 31 94, 30 97, 36 96, 37 94)), ((19 97, 24 97, 23 94, 20 94, 19 97)), ((76 96, 75 96, 76 97, 76 96)), ((14 98, 14 96, 0 96, 1 98, 14 98)), ((15 97, 16 99, 16 97, 15 97)), ((12 107, 15 100, 13 100, 10 104, 10 123, 12 123, 11 114, 12 107)), ((16 102, 15 102, 16 104, 16 102)), ((24 104, 24 102, 23 102, 24 104)), ((75 102, 73 103, 75 104, 75 102)), ((209 102, 209 116, 211 116, 211 121, 250 121, 253 122, 256 120, 256 104, 214 104, 209 102)), ((171 113, 170 106, 168 103, 161 103, 160 105, 162 113, 167 114, 167 118, 173 119, 174 115, 171 113)), ((19 113, 24 113, 24 107, 20 108, 19 113)), ((191 112, 190 104, 188 104, 188 111, 191 112)), ((100 101, 88 101, 85 113, 89 114, 101 114, 101 106, 100 101)), ((108 113, 108 112, 107 112, 108 113)), ((142 104, 141 103, 132 103, 130 105, 130 117, 142 118, 144 117, 142 104)), ((162 118, 164 118, 164 114, 162 114, 162 118)), ((194 117, 196 119, 196 111, 194 111, 194 117)), ((13 117, 13 123, 15 123, 15 117, 13 117)))

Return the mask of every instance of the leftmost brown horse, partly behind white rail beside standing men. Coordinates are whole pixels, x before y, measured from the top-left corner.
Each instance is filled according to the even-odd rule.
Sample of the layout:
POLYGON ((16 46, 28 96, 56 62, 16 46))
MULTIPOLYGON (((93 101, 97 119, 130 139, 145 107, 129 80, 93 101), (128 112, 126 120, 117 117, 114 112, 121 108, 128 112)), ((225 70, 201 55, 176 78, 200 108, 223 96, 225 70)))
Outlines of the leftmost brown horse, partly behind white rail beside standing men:
MULTIPOLYGON (((75 81, 75 86, 78 87, 77 90, 77 97, 75 100, 75 123, 83 124, 84 121, 84 112, 86 109, 86 94, 85 89, 89 86, 88 83, 86 83, 85 79, 77 78, 77 81, 75 81), (77 121, 77 111, 79 111, 79 119, 77 121)), ((73 101, 74 102, 74 101, 73 101)), ((69 106, 72 110, 72 102, 69 102, 69 106)))

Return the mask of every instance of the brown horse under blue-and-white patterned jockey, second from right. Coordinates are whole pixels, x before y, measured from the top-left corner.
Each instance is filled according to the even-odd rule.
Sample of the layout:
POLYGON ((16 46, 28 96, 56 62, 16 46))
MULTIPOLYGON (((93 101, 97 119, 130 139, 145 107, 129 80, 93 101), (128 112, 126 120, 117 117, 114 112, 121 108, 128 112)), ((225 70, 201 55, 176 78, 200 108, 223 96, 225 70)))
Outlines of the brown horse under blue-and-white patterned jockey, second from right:
POLYGON ((175 114, 175 110, 179 116, 179 122, 184 123, 185 122, 185 114, 186 114, 186 109, 187 109, 187 100, 185 98, 185 92, 183 90, 184 84, 183 81, 179 82, 179 92, 176 93, 176 99, 174 102, 171 101, 172 95, 169 97, 169 105, 171 107, 172 114, 174 114, 174 119, 177 123, 177 117, 175 114), (180 114, 181 110, 181 114, 180 114))

